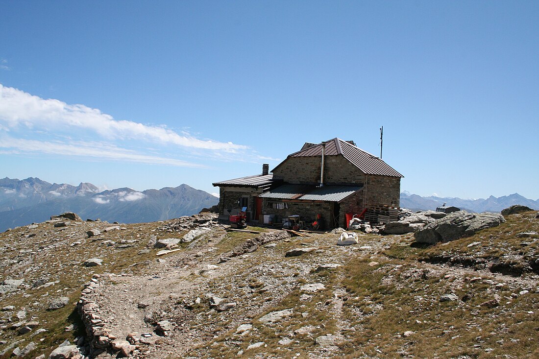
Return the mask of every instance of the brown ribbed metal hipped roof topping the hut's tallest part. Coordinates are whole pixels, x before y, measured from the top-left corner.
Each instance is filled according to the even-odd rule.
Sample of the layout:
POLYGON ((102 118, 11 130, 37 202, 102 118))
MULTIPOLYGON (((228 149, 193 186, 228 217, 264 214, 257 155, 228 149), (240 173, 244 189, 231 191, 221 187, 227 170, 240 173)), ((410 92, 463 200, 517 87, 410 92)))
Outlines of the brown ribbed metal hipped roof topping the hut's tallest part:
MULTIPOLYGON (((395 169, 393 169, 389 164, 382 161, 381 158, 378 158, 375 155, 371 155, 367 151, 364 151, 361 148, 358 148, 347 141, 343 141, 338 138, 326 141, 326 149, 324 150, 324 156, 337 155, 342 155, 350 163, 354 164, 358 169, 368 175, 404 177, 395 169)), ((303 146, 302 150, 288 155, 288 157, 308 156, 322 156, 322 143, 307 148, 303 146)), ((277 167, 279 167, 279 165, 277 167)))

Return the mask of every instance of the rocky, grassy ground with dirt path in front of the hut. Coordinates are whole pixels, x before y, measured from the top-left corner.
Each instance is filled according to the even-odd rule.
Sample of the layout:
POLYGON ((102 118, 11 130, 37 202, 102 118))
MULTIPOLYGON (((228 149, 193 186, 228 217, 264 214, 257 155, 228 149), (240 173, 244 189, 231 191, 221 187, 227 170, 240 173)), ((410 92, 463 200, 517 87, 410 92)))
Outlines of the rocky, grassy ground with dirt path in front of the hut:
POLYGON ((430 246, 209 214, 18 227, 0 234, 1 357, 539 357, 536 213, 430 246))

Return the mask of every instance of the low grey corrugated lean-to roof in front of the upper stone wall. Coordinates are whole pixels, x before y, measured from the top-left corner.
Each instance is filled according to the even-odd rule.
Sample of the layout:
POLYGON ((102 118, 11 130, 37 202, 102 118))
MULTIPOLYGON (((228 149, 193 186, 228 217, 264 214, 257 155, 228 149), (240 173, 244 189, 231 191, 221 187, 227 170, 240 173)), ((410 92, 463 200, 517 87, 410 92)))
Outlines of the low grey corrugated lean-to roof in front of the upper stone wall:
POLYGON ((316 187, 304 184, 284 184, 264 192, 258 197, 340 202, 362 188, 362 186, 324 185, 323 187, 316 187))

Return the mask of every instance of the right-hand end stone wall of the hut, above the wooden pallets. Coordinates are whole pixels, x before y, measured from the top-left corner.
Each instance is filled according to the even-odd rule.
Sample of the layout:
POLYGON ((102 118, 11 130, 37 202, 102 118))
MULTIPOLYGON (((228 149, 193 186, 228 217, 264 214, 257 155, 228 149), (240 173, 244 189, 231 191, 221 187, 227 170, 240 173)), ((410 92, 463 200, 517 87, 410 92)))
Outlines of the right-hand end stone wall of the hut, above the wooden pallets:
POLYGON ((374 204, 400 206, 400 177, 368 175, 363 190, 367 208, 374 204))

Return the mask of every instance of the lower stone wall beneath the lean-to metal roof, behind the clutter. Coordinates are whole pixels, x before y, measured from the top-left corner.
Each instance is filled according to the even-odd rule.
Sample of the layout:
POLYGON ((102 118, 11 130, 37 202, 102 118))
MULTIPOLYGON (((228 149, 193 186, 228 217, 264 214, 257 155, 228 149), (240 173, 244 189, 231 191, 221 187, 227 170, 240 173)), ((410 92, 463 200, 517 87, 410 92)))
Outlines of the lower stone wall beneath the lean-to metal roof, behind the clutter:
POLYGON ((306 224, 310 224, 315 220, 317 213, 322 215, 323 223, 326 228, 334 227, 333 220, 334 206, 332 202, 280 202, 279 199, 264 198, 265 215, 275 215, 275 222, 282 223, 282 218, 287 218, 292 215, 299 215, 300 220, 305 220, 306 224), (286 203, 288 208, 275 209, 272 203, 286 203))

